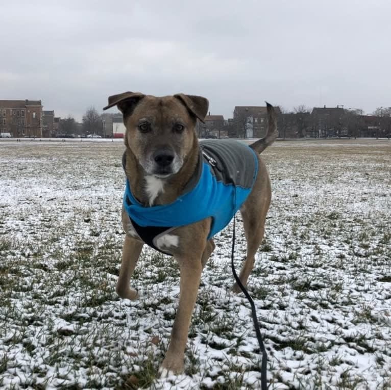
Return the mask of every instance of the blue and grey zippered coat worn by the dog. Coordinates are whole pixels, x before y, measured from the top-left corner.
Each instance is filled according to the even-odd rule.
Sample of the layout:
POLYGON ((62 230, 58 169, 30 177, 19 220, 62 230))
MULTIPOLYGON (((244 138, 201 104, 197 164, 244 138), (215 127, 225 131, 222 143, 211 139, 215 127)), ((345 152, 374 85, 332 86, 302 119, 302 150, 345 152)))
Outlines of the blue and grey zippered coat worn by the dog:
MULTIPOLYGON (((125 168, 125 153, 123 165, 125 168)), ((173 203, 143 206, 126 180, 124 207, 138 236, 154 249, 156 240, 170 230, 211 217, 208 240, 223 230, 254 185, 258 158, 249 146, 233 140, 200 142, 196 174, 173 203)))

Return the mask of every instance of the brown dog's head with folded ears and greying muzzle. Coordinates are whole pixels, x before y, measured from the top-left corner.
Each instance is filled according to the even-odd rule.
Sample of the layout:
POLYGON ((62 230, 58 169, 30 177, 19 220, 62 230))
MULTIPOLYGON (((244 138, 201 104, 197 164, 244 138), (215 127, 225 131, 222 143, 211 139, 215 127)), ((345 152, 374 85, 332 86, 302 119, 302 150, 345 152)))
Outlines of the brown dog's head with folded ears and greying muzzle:
POLYGON ((149 175, 177 173, 194 147, 197 118, 208 112, 205 97, 177 94, 156 97, 124 92, 109 97, 104 108, 117 106, 124 115, 125 145, 149 175))

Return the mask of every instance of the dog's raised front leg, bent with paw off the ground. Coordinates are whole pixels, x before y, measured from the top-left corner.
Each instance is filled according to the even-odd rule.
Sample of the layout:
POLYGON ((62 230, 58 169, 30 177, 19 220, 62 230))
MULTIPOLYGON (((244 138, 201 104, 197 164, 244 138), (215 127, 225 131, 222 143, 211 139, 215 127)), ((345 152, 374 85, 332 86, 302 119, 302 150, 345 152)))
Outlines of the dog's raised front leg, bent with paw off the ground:
POLYGON ((130 278, 136 267, 138 257, 140 256, 142 246, 141 241, 125 236, 124 248, 122 252, 122 263, 119 270, 116 292, 121 298, 135 300, 138 298, 136 290, 129 286, 130 278))

